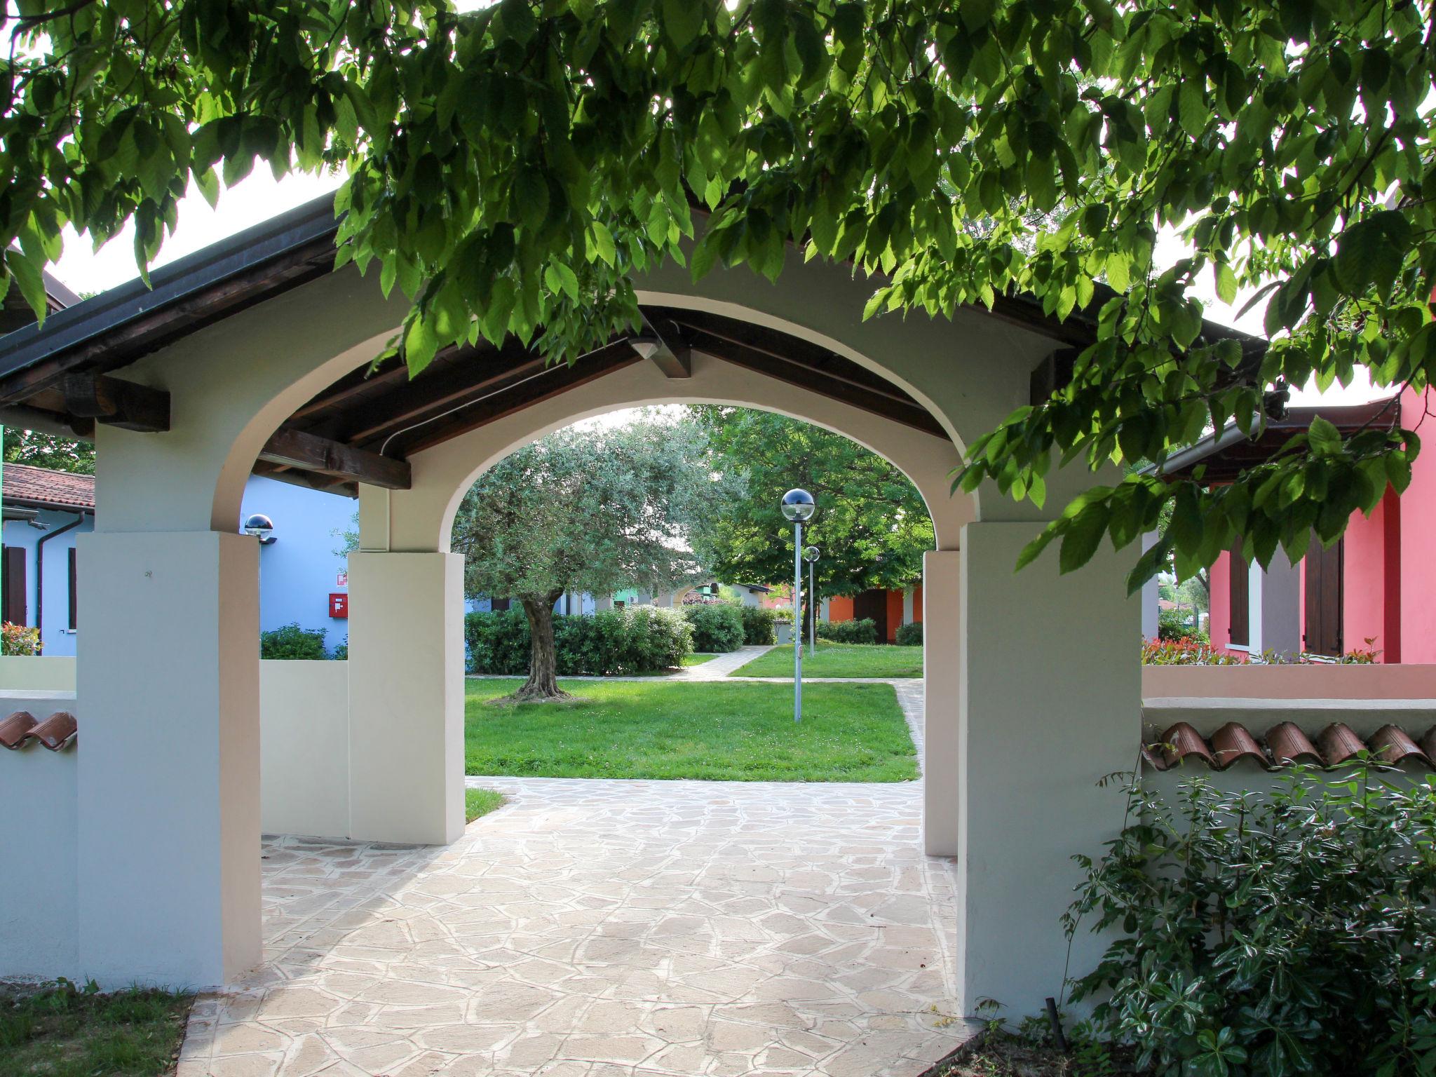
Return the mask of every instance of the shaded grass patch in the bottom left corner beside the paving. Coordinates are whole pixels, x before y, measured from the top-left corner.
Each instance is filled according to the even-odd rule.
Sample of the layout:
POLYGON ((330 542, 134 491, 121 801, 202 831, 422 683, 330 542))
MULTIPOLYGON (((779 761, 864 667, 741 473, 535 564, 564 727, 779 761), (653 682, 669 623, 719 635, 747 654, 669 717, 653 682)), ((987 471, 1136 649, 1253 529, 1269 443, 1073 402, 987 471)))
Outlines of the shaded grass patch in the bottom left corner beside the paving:
POLYGON ((63 979, 0 985, 0 1077, 171 1073, 191 1002, 141 988, 102 995, 63 979))

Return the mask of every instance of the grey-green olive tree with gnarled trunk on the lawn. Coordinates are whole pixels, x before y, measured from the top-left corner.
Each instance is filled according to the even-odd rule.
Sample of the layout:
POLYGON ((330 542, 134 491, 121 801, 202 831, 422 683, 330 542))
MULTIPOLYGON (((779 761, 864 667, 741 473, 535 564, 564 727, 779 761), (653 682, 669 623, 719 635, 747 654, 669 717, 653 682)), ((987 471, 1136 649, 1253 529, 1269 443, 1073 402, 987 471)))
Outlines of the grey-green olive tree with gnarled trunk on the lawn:
POLYGON ((528 679, 513 699, 567 698, 553 643, 564 592, 658 592, 696 577, 688 534, 712 485, 702 461, 692 426, 570 426, 498 461, 464 495, 454 550, 465 590, 517 599, 528 617, 528 679))

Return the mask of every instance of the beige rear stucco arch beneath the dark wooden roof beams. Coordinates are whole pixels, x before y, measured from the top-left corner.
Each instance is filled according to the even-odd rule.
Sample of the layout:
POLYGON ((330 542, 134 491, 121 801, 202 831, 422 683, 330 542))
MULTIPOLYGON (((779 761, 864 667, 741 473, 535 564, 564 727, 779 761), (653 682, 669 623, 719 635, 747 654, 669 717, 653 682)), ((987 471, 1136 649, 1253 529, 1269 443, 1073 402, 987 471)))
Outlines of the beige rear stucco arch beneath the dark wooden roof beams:
POLYGON ((365 490, 360 546, 366 550, 449 549, 454 514, 464 493, 487 468, 544 434, 620 408, 662 404, 727 404, 778 412, 852 438, 900 470, 922 494, 939 550, 955 550, 962 526, 975 517, 969 495, 949 494, 956 447, 847 404, 768 378, 701 352, 692 378, 669 379, 652 363, 633 363, 582 391, 567 392, 416 452, 411 490, 365 490))

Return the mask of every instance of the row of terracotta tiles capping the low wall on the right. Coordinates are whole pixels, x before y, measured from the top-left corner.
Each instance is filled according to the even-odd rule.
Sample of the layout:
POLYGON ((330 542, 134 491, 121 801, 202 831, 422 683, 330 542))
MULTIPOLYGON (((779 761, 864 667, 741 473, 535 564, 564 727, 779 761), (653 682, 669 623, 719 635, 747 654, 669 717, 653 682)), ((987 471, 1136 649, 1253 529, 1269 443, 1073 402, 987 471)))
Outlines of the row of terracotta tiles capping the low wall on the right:
POLYGON ((1155 741, 1142 745, 1142 757, 1156 770, 1178 767, 1189 757, 1202 760, 1212 770, 1226 770, 1239 760, 1252 760, 1267 770, 1277 770, 1297 763, 1340 767, 1358 763, 1363 755, 1386 765, 1406 763, 1436 770, 1436 725, 1420 740, 1399 725, 1383 725, 1361 740, 1350 725, 1333 722, 1313 744, 1295 722, 1278 722, 1262 738, 1252 735, 1239 722, 1228 722, 1211 737, 1202 737, 1188 722, 1178 722, 1155 741))

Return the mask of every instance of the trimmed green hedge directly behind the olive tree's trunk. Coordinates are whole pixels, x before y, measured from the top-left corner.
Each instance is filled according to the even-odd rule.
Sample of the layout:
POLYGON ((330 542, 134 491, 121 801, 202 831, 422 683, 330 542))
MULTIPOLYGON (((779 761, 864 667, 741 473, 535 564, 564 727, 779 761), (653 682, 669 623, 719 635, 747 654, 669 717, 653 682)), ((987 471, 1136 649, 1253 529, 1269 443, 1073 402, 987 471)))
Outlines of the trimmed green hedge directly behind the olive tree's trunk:
MULTIPOLYGON (((521 607, 464 617, 471 673, 528 672, 528 617, 521 607)), ((678 610, 629 606, 553 619, 560 676, 622 676, 676 666, 694 649, 692 629, 678 610)))

